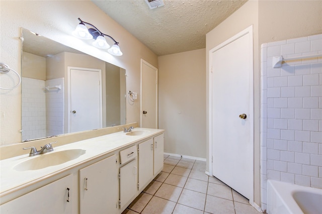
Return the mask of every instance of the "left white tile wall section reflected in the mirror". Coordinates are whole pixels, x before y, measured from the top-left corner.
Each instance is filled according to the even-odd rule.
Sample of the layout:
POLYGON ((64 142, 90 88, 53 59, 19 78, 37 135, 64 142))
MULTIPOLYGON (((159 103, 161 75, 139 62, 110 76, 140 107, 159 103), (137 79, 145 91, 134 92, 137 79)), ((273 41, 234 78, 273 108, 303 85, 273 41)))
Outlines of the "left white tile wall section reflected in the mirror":
POLYGON ((22 78, 22 141, 46 136, 45 81, 22 78))

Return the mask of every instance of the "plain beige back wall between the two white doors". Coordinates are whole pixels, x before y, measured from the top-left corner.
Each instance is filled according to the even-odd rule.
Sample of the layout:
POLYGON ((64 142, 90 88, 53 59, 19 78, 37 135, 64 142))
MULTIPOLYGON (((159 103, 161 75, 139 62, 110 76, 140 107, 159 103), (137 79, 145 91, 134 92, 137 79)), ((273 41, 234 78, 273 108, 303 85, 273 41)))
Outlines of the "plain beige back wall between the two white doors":
POLYGON ((158 57, 165 152, 206 158, 205 49, 158 57))

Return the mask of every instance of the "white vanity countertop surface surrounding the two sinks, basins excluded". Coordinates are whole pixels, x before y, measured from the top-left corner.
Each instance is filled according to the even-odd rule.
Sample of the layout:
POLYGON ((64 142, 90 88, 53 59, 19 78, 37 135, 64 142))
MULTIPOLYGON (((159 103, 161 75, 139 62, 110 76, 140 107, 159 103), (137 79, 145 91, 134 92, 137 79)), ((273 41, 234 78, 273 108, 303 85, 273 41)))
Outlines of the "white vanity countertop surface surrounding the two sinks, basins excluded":
MULTIPOLYGON (((69 149, 83 149, 86 153, 79 156, 76 159, 67 161, 65 163, 49 166, 38 170, 26 170, 17 171, 14 167, 21 162, 29 160, 31 158, 37 158, 38 156, 29 157, 29 153, 13 158, 8 158, 0 161, 0 195, 6 195, 17 190, 17 187, 25 186, 30 183, 38 182, 39 180, 45 179, 48 176, 58 174, 62 171, 71 169, 93 160, 101 155, 108 154, 115 150, 126 147, 127 145, 135 142, 144 140, 156 134, 161 134, 164 130, 160 129, 144 129, 135 128, 133 131, 145 130, 148 131, 139 136, 128 136, 126 133, 117 132, 109 135, 104 135, 88 140, 78 141, 75 143, 66 144, 63 146, 55 147, 53 144, 54 151, 41 154, 53 154, 55 152, 69 150, 69 149)), ((21 148, 22 149, 22 148, 21 148)), ((29 151, 29 150, 28 150, 29 151)))

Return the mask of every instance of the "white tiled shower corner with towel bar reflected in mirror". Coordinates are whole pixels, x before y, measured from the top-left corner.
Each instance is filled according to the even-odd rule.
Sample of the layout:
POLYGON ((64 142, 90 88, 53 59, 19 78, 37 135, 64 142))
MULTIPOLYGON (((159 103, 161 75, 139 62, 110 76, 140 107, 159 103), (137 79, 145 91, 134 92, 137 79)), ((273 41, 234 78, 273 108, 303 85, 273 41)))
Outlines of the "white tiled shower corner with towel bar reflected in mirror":
POLYGON ((23 77, 22 139, 30 140, 64 133, 64 78, 39 80, 23 77), (44 87, 61 85, 61 90, 44 87))

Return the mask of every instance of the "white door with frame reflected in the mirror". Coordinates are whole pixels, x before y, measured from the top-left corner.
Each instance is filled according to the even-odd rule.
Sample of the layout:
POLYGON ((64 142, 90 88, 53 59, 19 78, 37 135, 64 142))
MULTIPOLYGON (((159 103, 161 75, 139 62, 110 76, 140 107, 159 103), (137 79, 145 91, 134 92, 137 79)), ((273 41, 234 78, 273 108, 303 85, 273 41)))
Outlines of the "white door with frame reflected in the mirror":
POLYGON ((68 67, 68 132, 103 127, 102 70, 68 67))

